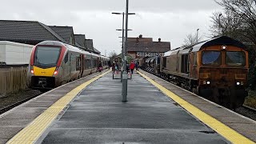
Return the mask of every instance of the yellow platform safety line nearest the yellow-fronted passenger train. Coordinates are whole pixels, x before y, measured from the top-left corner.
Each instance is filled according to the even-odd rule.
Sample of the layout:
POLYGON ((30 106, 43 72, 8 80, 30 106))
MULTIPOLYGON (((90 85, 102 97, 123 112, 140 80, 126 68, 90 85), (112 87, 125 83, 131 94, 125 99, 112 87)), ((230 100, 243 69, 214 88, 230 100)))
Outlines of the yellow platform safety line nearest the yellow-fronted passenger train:
POLYGON ((103 75, 109 73, 110 70, 106 71, 103 74, 98 75, 95 78, 90 79, 87 82, 82 83, 82 85, 74 88, 65 96, 60 98, 42 114, 34 119, 33 122, 30 122, 28 126, 22 129, 18 134, 11 138, 7 143, 34 143, 42 135, 42 133, 50 126, 51 122, 57 118, 58 114, 69 104, 72 99, 86 86, 90 85, 91 82, 94 82, 103 75))

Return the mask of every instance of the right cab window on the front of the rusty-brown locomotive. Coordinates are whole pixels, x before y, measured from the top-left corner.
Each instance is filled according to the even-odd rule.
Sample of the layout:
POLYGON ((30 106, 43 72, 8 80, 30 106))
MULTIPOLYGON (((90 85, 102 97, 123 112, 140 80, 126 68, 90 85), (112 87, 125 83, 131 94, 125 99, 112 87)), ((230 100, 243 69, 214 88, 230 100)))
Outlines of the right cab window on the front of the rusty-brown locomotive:
POLYGON ((245 66, 246 54, 243 51, 226 51, 226 65, 245 66))

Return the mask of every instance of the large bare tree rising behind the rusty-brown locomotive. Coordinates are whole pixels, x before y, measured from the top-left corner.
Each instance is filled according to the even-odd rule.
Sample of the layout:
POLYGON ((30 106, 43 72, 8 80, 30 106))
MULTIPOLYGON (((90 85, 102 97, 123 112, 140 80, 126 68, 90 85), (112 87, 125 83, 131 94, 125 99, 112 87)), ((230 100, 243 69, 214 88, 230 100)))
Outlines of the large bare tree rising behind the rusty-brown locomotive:
MULTIPOLYGON (((218 18, 220 20, 218 22, 223 26, 221 27, 223 28, 222 34, 238 38, 242 42, 253 42, 256 45, 255 0, 222 0, 222 2, 217 3, 224 7, 226 15, 221 19, 218 18)), ((216 20, 216 15, 214 17, 216 20)), ((215 25, 218 22, 214 22, 215 25)))

